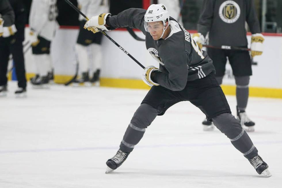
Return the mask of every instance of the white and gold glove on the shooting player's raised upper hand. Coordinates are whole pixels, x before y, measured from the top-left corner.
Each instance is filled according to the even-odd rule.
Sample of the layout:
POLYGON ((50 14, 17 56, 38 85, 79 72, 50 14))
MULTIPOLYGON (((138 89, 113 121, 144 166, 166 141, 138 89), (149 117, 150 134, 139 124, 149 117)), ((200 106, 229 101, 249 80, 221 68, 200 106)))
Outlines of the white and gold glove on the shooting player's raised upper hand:
POLYGON ((92 31, 93 33, 99 32, 97 28, 100 28, 102 30, 110 31, 106 28, 106 18, 107 16, 110 16, 110 13, 104 13, 100 14, 99 16, 93 16, 90 20, 88 20, 85 25, 84 29, 87 29, 88 31, 92 31))

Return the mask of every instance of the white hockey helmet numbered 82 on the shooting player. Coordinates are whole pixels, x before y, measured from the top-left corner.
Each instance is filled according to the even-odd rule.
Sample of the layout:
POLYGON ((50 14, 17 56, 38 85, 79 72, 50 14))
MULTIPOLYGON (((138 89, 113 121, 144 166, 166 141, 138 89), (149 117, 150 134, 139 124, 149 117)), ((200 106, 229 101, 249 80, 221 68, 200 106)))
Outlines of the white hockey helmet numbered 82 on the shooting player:
MULTIPOLYGON (((146 14, 144 15, 144 27, 147 32, 149 32, 148 29, 148 23, 149 22, 163 22, 163 34, 165 32, 165 29, 167 29, 166 21, 168 21, 169 25, 169 12, 167 10, 167 7, 164 4, 152 4, 148 7, 148 10, 146 11, 146 14)), ((163 34, 161 37, 163 37, 163 34)))

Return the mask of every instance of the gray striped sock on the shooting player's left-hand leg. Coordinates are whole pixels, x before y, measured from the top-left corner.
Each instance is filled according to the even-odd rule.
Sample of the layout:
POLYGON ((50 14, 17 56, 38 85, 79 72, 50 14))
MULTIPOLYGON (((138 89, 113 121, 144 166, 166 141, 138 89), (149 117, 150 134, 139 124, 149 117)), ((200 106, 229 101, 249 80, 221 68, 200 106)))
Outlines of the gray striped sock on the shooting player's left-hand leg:
POLYGON ((134 113, 129 126, 127 127, 120 149, 123 152, 131 152, 135 145, 143 137, 146 128, 152 123, 159 111, 148 104, 142 104, 134 113))

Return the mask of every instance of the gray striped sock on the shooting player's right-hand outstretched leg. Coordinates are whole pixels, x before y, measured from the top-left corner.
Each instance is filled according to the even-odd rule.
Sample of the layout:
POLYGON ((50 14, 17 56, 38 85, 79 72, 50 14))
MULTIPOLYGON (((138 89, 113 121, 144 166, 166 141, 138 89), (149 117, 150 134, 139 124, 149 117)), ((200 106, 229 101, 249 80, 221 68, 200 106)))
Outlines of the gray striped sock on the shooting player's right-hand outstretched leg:
POLYGON ((258 150, 251 141, 251 138, 232 114, 223 113, 212 118, 212 120, 214 125, 230 139, 232 145, 238 149, 244 157, 252 159, 258 154, 258 150))

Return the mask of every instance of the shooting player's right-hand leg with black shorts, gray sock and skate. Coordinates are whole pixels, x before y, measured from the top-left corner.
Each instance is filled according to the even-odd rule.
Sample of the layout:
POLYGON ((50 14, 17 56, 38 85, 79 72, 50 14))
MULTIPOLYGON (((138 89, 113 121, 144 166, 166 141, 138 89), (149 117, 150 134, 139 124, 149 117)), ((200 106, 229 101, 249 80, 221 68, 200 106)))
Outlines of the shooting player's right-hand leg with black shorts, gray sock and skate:
MULTIPOLYGON (((199 107, 207 115, 207 118, 214 122, 214 125, 230 139, 233 146, 261 174, 268 166, 258 155, 258 150, 252 143, 247 132, 243 130, 239 120, 231 114, 225 95, 215 77, 209 75, 207 78, 199 79, 196 82, 199 82, 199 85, 202 85, 204 89, 199 92, 195 99, 190 100, 190 102, 199 107), (208 86, 209 89, 205 86, 208 86)), ((268 170, 264 172, 264 175, 269 175, 268 170)))

